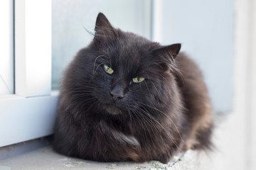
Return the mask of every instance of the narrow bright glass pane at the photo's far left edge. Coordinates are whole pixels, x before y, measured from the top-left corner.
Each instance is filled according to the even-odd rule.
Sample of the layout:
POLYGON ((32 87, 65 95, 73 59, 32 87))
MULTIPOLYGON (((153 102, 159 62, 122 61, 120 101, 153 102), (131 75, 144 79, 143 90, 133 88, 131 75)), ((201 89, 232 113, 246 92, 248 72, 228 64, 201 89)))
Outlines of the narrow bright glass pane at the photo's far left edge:
POLYGON ((14 93, 14 1, 0 1, 0 95, 14 93))

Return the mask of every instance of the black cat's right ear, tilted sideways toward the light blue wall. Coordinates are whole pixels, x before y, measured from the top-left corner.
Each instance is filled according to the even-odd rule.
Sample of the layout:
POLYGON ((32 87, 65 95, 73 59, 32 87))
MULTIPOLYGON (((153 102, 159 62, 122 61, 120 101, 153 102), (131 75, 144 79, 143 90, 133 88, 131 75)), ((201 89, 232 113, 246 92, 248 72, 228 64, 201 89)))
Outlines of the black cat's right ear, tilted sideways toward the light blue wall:
POLYGON ((172 44, 172 45, 166 45, 163 47, 159 47, 154 50, 154 53, 156 55, 160 55, 161 57, 168 56, 168 57, 175 59, 180 50, 181 50, 181 44, 178 43, 178 44, 172 44))

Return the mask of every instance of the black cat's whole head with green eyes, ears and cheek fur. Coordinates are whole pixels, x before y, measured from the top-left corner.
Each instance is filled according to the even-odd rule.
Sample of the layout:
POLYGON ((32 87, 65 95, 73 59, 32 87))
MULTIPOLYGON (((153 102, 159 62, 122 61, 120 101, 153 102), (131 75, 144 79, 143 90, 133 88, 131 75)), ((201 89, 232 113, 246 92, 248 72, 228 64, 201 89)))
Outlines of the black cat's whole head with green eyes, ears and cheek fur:
MULTIPOLYGON (((161 46, 112 27, 99 13, 92 43, 72 66, 73 84, 80 84, 92 109, 122 115, 166 107, 176 97, 175 57, 181 44, 161 46), (80 70, 78 72, 78 70, 80 70)), ((70 71, 71 72, 71 71, 70 71)), ((82 101, 81 101, 82 102, 82 101)), ((84 103, 86 103, 84 102, 84 103)))

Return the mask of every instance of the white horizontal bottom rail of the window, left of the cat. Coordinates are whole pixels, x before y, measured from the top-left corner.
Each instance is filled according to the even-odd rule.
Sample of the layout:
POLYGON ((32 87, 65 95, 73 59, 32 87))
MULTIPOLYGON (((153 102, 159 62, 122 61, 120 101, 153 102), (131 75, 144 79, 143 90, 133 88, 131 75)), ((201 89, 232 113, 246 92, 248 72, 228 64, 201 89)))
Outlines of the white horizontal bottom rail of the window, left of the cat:
POLYGON ((48 96, 0 98, 0 147, 53 134, 58 91, 48 96))

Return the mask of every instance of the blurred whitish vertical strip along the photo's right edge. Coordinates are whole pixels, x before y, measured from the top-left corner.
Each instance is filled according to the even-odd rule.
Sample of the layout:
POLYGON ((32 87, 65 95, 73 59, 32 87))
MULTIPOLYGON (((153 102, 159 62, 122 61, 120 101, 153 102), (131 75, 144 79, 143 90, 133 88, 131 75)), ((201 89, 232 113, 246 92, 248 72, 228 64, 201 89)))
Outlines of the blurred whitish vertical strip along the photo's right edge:
MULTIPOLYGON (((235 1, 234 132, 237 169, 256 169, 256 3, 235 1)), ((235 168, 235 167, 234 167, 235 168)))

